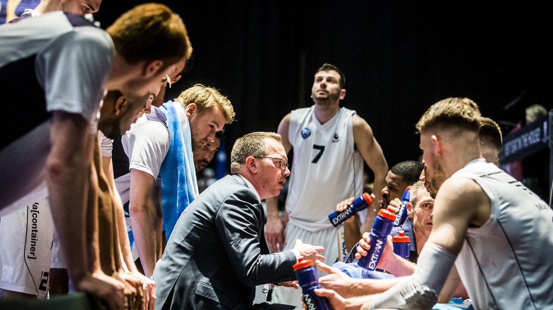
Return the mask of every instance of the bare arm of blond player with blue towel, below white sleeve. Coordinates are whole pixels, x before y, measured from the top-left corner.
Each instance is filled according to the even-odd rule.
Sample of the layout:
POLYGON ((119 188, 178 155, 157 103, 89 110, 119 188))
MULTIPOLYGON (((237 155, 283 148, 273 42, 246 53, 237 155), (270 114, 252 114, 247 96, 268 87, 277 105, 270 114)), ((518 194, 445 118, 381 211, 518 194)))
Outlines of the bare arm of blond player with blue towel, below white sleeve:
POLYGON ((156 263, 156 242, 161 236, 155 233, 156 205, 154 199, 155 179, 152 175, 131 169, 131 227, 137 245, 140 262, 146 276, 152 276, 156 263))

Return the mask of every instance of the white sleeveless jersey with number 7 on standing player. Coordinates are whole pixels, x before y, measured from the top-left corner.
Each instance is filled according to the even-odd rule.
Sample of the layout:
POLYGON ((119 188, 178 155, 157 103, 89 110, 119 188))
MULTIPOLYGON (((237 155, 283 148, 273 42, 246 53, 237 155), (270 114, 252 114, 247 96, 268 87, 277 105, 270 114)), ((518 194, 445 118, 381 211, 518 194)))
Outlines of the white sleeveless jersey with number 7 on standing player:
POLYGON ((293 110, 288 139, 294 149, 286 211, 308 231, 332 227, 336 204, 363 190, 363 158, 354 148, 353 110, 340 108, 325 124, 315 106, 293 110))

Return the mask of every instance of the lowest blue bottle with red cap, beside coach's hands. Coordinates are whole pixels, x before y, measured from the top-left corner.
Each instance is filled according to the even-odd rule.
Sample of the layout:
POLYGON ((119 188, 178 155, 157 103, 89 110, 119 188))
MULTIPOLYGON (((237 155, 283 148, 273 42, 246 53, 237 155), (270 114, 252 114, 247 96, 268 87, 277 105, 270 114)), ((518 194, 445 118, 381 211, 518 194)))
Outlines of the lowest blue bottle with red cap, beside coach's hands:
POLYGON ((319 284, 319 276, 317 276, 317 270, 315 270, 313 261, 300 257, 298 263, 294 264, 294 271, 296 272, 296 278, 301 287, 307 309, 330 309, 326 297, 315 294, 315 288, 321 288, 322 286, 319 284))

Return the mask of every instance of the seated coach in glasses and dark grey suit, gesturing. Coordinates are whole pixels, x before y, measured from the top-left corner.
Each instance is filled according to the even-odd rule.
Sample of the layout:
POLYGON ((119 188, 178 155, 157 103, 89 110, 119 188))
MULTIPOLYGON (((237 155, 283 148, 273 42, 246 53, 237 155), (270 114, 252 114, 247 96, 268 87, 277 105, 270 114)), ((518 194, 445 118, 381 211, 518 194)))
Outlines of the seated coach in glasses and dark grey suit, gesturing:
POLYGON ((298 257, 324 259, 322 247, 296 242, 269 254, 260 201, 280 193, 288 170, 280 135, 249 133, 234 143, 231 172, 182 212, 154 270, 155 309, 249 309, 255 286, 297 287, 298 257))

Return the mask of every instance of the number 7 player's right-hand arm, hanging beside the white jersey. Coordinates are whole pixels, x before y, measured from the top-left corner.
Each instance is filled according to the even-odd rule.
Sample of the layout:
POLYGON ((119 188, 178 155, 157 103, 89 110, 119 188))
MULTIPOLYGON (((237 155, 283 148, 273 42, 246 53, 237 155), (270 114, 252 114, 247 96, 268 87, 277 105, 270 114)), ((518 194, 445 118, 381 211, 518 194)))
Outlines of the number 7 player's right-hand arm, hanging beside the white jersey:
MULTIPOLYGON (((373 193, 376 196, 374 201, 380 200, 380 189, 384 188, 386 174, 388 173, 388 164, 382 153, 382 148, 373 136, 373 130, 367 122, 357 114, 352 117, 353 140, 355 146, 361 153, 364 161, 374 173, 373 193)), ((361 233, 368 232, 377 216, 378 204, 374 204, 367 212, 367 218, 361 226, 361 233)))

